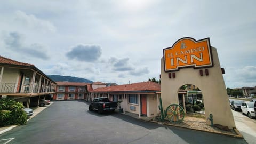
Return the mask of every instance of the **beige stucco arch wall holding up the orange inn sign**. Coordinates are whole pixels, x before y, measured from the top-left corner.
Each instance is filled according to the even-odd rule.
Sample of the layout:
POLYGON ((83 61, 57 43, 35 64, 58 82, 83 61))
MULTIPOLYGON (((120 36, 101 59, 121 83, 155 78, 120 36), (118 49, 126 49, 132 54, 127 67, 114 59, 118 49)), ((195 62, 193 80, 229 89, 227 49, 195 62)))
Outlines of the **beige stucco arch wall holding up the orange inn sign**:
MULTIPOLYGON (((161 59, 161 97, 163 108, 172 103, 178 103, 178 89, 185 84, 199 87, 204 97, 205 117, 213 115, 213 123, 227 125, 230 129, 235 126, 230 109, 225 82, 222 76, 217 49, 212 47, 214 67, 207 68, 209 75, 199 75, 200 69, 183 68, 175 72, 175 78, 169 78, 164 71, 163 58, 161 59)), ((202 68, 205 71, 205 68, 202 68)), ((172 72, 173 73, 173 72, 172 72)))

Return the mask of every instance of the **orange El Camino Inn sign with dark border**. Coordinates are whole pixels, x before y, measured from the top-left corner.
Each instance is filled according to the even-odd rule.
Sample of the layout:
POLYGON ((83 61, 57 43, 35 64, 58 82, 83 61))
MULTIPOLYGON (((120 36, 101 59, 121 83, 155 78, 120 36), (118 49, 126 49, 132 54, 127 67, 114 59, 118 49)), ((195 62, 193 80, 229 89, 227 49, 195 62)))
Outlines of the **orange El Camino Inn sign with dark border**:
POLYGON ((176 71, 185 67, 212 67, 212 51, 210 39, 196 41, 194 38, 179 39, 164 51, 165 71, 176 71))

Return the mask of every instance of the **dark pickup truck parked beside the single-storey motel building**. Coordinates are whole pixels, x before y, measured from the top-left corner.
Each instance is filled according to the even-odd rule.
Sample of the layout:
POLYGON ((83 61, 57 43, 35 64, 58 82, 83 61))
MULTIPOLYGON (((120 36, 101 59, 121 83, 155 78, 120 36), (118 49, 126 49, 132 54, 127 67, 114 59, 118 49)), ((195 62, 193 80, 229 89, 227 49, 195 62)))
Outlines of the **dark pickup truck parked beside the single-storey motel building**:
POLYGON ((103 111, 115 111, 117 109, 117 102, 109 101, 105 97, 95 98, 89 105, 89 110, 92 111, 93 109, 97 109, 99 114, 103 111))

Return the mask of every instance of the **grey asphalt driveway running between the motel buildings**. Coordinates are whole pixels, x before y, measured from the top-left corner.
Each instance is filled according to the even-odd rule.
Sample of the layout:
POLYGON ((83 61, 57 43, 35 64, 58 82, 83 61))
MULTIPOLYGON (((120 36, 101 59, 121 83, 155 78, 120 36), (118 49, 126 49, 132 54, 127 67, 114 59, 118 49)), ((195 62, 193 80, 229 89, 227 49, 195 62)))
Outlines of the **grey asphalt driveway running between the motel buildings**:
POLYGON ((89 111, 84 101, 55 101, 0 135, 0 143, 247 143, 244 139, 89 111), (4 139, 4 140, 3 140, 4 139), (2 140, 2 141, 1 141, 2 140))

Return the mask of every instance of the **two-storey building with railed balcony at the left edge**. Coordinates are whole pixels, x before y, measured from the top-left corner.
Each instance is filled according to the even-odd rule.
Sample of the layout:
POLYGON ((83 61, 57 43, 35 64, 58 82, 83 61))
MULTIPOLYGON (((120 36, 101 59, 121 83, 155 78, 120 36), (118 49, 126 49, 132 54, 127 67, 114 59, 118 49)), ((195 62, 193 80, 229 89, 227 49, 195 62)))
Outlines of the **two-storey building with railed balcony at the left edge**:
POLYGON ((0 98, 12 98, 30 106, 33 99, 51 97, 57 83, 33 64, 0 56, 0 98))

